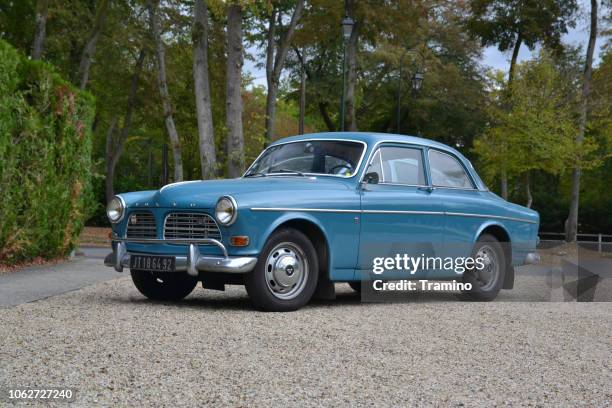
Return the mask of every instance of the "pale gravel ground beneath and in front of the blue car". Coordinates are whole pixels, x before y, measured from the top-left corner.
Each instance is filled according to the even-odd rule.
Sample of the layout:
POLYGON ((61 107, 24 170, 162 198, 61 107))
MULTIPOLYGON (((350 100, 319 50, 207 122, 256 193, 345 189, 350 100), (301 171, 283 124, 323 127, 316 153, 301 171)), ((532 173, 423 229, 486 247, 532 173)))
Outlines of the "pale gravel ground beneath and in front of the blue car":
POLYGON ((75 387, 76 406, 610 405, 612 303, 337 291, 274 314, 241 287, 166 304, 121 278, 1 309, 0 385, 75 387))

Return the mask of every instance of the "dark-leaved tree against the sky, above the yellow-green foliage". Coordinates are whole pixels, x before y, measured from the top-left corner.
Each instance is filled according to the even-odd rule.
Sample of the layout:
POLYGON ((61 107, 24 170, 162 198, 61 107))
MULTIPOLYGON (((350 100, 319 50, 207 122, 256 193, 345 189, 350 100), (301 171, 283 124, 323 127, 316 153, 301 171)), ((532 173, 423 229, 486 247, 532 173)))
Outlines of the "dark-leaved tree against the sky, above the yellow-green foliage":
MULTIPOLYGON (((533 49, 543 43, 559 51, 561 35, 574 26, 575 0, 471 0, 468 30, 480 38, 483 46, 497 45, 500 51, 512 49, 508 70, 508 88, 522 44, 533 49)), ((507 170, 502 168, 501 193, 508 198, 507 170)))

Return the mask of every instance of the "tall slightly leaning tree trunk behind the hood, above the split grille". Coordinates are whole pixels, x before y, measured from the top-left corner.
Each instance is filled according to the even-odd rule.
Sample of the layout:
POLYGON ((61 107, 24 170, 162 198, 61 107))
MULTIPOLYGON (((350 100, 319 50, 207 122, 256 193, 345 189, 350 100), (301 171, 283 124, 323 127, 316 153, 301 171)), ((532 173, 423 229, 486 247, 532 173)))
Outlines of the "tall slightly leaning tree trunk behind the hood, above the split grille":
POLYGON ((159 95, 162 101, 164 110, 164 121, 166 123, 166 131, 172 144, 172 157, 174 159, 174 181, 183 181, 183 158, 181 154, 181 144, 174 125, 172 116, 172 101, 168 92, 168 82, 166 80, 166 50, 164 42, 161 38, 161 30, 159 27, 159 16, 155 12, 155 7, 151 1, 148 2, 149 15, 151 19, 151 31, 155 41, 155 49, 157 52, 157 84, 159 87, 159 95))

